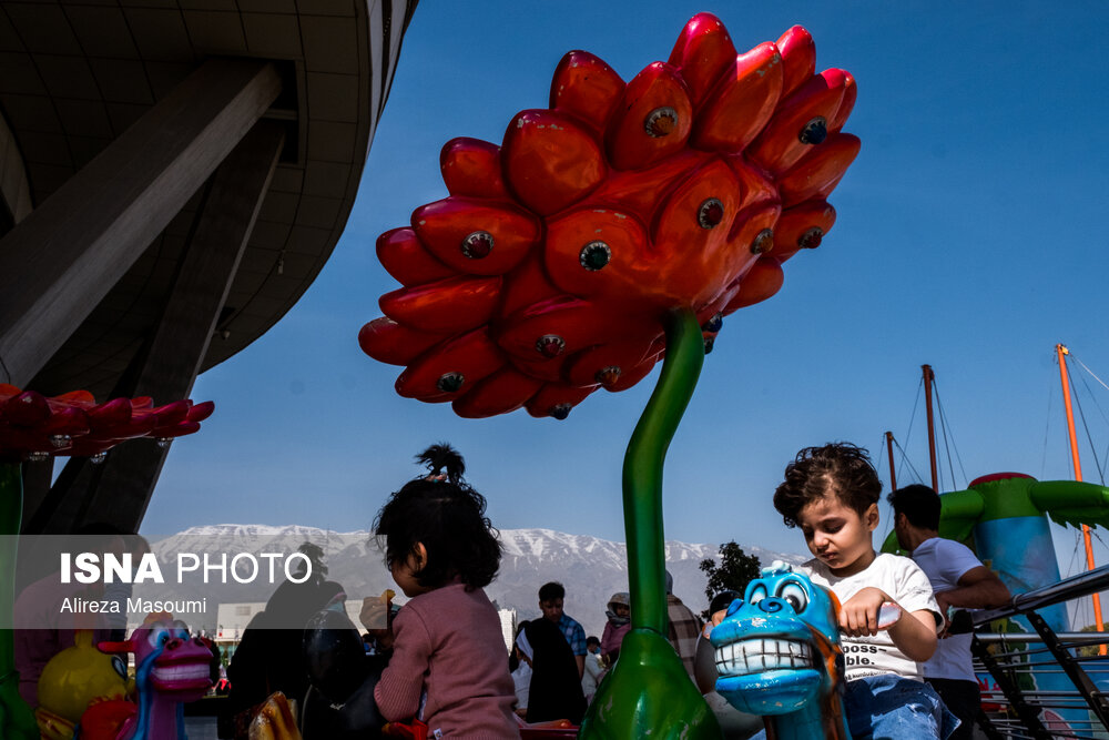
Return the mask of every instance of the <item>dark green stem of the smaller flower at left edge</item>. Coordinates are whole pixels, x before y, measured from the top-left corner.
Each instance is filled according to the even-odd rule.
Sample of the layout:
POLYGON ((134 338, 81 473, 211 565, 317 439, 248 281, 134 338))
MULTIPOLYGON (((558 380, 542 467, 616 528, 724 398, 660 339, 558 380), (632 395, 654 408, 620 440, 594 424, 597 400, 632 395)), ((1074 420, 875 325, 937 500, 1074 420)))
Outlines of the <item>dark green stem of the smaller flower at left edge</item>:
MULTIPOLYGON (((23 515, 23 479, 17 463, 0 463, 0 624, 11 622, 16 604, 16 543, 23 515)), ((0 629, 0 738, 38 740, 34 713, 19 696, 16 632, 0 629)))

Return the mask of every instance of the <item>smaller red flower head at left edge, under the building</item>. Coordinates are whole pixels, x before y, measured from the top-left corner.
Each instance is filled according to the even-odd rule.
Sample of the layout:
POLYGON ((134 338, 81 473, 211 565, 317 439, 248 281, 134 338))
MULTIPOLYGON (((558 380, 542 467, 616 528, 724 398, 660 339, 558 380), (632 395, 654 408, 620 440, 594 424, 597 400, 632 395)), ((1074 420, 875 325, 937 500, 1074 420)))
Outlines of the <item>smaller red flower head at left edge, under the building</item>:
POLYGON ((135 437, 166 444, 192 434, 212 415, 211 401, 175 401, 154 407, 149 397, 98 404, 88 391, 48 398, 0 383, 0 462, 73 455, 103 459, 102 453, 135 437))

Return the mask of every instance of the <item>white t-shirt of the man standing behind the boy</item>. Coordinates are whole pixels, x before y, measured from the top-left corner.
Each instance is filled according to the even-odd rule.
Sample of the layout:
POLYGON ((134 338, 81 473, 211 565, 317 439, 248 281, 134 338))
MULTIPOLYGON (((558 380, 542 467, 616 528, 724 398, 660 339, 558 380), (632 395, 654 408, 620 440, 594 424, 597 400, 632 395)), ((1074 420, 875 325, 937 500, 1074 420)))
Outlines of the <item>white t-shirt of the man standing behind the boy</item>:
MULTIPOLYGON (((933 537, 920 543, 913 550, 913 559, 932 581, 936 594, 957 588, 959 578, 981 565, 966 545, 953 539, 933 537)), ((926 678, 949 678, 959 681, 977 681, 971 657, 971 635, 953 635, 939 640, 936 655, 924 663, 926 678)))

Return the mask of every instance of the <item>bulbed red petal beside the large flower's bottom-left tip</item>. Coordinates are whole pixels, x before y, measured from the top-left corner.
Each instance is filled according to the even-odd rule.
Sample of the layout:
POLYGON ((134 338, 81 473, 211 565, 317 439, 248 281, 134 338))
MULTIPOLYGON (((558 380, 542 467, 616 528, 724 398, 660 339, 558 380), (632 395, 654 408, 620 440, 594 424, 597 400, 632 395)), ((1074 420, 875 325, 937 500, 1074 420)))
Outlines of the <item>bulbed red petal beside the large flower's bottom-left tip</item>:
POLYGON ((505 355, 485 328, 450 339, 429 349, 397 378, 397 393, 420 401, 449 401, 467 393, 478 381, 505 366, 505 355), (448 374, 461 376, 456 391, 439 387, 448 374))

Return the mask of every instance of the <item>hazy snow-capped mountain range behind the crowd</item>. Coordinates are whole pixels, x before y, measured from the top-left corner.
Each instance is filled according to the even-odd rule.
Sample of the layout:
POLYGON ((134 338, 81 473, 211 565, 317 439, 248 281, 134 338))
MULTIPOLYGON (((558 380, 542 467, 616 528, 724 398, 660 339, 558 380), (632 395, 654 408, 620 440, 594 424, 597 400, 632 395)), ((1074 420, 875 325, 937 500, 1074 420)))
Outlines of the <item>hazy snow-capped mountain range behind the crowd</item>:
MULTIPOLYGON (((154 539, 154 538, 151 538, 154 539)), ((580 621, 587 633, 600 636, 604 628, 604 608, 609 597, 628 590, 627 548, 598 537, 570 535, 551 529, 501 529, 503 546, 500 574, 486 588, 490 599, 501 608, 516 609, 519 619, 539 616, 537 591, 550 580, 566 586, 566 612, 580 621)), ((156 539, 152 548, 163 571, 175 574, 179 555, 203 554, 216 561, 220 554, 228 559, 248 553, 255 557, 263 553, 289 555, 305 541, 318 545, 325 555, 327 578, 338 581, 350 599, 376 596, 387 588, 396 588, 385 567, 381 551, 369 531, 335 533, 314 527, 266 525, 207 525, 192 527, 176 535, 156 539)), ((719 545, 667 541, 667 568, 674 577, 674 594, 694 611, 708 606, 704 595, 705 575, 699 568, 705 558, 719 559, 719 545)), ((749 555, 759 557, 763 565, 772 560, 801 562, 798 555, 773 553, 761 547, 743 547, 749 555)), ((194 627, 215 627, 220 602, 265 601, 276 585, 268 582, 267 561, 261 559, 262 572, 250 584, 238 584, 232 578, 226 585, 214 584, 204 594, 208 599, 206 622, 190 619, 194 627)), ((277 560, 281 572, 282 560, 277 560)), ((218 580, 213 571, 213 580, 218 580)), ((135 596, 143 598, 196 598, 195 594, 175 589, 174 578, 167 577, 164 586, 140 584, 135 596)), ((279 584, 282 577, 277 577, 279 584)), ((398 595, 397 602, 404 597, 398 595)))

